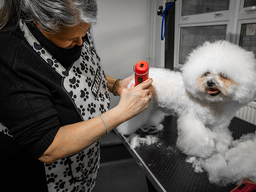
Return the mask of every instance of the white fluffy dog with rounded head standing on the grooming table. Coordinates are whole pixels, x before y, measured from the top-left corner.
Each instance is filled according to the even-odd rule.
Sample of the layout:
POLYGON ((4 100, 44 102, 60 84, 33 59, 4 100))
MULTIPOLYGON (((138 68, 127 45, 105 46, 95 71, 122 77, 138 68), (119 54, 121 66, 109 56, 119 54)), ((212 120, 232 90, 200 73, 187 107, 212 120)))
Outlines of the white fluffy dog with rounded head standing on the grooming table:
POLYGON ((206 41, 189 54, 181 71, 150 68, 152 101, 118 132, 129 135, 145 126, 160 130, 165 115, 176 115, 177 146, 183 153, 197 157, 225 153, 232 142, 230 120, 256 97, 253 52, 225 40, 206 41))

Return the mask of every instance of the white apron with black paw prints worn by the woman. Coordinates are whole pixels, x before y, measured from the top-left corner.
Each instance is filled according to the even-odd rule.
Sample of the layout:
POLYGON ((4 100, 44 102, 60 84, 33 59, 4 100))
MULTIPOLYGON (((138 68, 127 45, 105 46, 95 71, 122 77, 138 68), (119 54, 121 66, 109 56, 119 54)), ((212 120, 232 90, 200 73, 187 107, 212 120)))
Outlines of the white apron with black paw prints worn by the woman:
MULTIPOLYGON (((62 76, 62 88, 84 121, 109 109, 110 92, 106 77, 99 57, 87 41, 83 42, 80 58, 66 70, 39 44, 21 21, 20 28, 34 50, 62 76)), ((77 154, 45 164, 49 192, 91 191, 98 173, 99 153, 100 139, 77 154)))

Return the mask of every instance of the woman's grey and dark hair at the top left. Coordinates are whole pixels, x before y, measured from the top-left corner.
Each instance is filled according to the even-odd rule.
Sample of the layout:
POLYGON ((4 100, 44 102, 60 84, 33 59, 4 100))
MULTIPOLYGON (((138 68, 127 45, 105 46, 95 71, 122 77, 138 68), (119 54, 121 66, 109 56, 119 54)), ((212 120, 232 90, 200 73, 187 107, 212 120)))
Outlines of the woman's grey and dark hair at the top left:
POLYGON ((79 23, 95 25, 98 5, 96 0, 3 0, 0 9, 0 30, 9 22, 15 28, 20 19, 35 21, 42 30, 58 33, 61 27, 79 23))

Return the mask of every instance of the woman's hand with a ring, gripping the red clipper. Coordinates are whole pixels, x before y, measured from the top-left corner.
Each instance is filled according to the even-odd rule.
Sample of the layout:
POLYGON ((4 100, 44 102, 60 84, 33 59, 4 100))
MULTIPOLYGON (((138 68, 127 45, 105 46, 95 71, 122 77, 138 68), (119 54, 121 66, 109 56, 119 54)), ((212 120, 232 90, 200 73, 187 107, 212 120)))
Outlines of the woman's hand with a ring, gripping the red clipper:
POLYGON ((153 79, 149 78, 136 87, 133 85, 131 88, 123 89, 117 107, 123 111, 122 114, 126 116, 126 120, 133 118, 148 107, 149 94, 152 95, 152 82, 153 79))

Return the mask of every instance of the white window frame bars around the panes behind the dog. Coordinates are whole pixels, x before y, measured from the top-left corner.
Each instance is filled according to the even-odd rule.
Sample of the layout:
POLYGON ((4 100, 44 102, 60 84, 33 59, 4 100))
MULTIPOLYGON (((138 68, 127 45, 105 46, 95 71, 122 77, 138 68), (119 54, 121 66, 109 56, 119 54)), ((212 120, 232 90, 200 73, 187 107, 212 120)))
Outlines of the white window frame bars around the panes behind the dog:
POLYGON ((176 1, 174 47, 177 49, 174 49, 174 68, 183 66, 179 63, 182 27, 227 25, 226 40, 239 45, 242 24, 256 20, 256 6, 244 7, 244 3, 245 0, 230 0, 228 10, 181 16, 182 0, 176 1))

